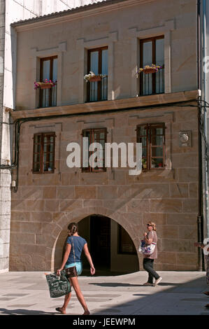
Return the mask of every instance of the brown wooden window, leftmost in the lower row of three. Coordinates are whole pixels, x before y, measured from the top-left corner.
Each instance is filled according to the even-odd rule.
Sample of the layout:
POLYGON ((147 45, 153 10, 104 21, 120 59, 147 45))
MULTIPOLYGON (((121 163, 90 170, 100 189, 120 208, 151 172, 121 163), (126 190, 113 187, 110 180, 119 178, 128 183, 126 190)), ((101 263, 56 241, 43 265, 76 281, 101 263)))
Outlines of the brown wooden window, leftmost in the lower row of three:
POLYGON ((55 132, 34 134, 34 174, 55 172, 55 132))

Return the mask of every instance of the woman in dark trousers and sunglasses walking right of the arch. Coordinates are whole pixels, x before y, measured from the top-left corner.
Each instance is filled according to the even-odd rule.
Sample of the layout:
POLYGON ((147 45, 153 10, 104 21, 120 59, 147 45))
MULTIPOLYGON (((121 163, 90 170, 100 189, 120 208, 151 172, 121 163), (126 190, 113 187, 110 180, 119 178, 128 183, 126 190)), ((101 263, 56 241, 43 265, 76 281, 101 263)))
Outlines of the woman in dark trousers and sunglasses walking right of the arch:
POLYGON ((154 259, 157 259, 157 233, 156 233, 156 226, 154 223, 149 222, 147 224, 148 232, 144 233, 144 241, 146 245, 152 244, 154 242, 155 247, 154 251, 147 255, 143 253, 143 268, 145 271, 148 272, 148 281, 143 284, 143 286, 157 286, 157 284, 161 281, 161 276, 154 271, 154 259), (153 283, 153 278, 155 279, 155 283, 153 283))

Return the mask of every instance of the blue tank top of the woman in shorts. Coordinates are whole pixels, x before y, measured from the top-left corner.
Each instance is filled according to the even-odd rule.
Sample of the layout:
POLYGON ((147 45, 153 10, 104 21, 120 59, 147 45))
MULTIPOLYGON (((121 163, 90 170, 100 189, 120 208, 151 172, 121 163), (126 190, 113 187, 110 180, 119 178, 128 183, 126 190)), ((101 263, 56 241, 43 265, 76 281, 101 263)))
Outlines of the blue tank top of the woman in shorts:
POLYGON ((69 254, 69 258, 66 261, 66 265, 72 264, 74 262, 80 262, 80 255, 82 253, 82 249, 85 244, 87 244, 87 241, 83 239, 82 237, 68 237, 67 244, 71 244, 71 252, 69 254), (74 251, 75 251, 75 260, 74 260, 74 255, 73 255, 73 244, 72 244, 72 239, 73 239, 73 244, 74 244, 74 251))

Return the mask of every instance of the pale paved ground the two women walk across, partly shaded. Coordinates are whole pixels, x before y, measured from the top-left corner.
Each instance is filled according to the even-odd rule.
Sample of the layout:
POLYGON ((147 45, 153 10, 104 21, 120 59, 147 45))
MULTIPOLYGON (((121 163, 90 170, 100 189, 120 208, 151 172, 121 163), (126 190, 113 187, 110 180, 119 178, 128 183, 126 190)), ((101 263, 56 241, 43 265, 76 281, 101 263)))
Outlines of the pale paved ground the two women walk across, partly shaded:
MULTIPOLYGON (((203 291, 206 272, 159 272, 159 286, 145 287, 146 272, 121 276, 80 276, 81 290, 92 315, 209 315, 203 291)), ((0 315, 59 315, 64 297, 50 298, 43 272, 0 274, 0 315)), ((82 314, 74 291, 67 310, 82 314)))

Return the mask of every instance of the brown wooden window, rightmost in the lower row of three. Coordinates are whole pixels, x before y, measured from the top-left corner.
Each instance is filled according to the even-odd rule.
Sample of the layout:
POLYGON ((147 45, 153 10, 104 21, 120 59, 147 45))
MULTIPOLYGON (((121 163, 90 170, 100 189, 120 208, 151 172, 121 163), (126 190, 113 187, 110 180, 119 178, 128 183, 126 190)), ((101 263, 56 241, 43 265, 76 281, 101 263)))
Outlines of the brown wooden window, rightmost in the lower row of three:
POLYGON ((164 169, 165 124, 147 124, 137 127, 137 141, 142 144, 143 169, 164 169))

